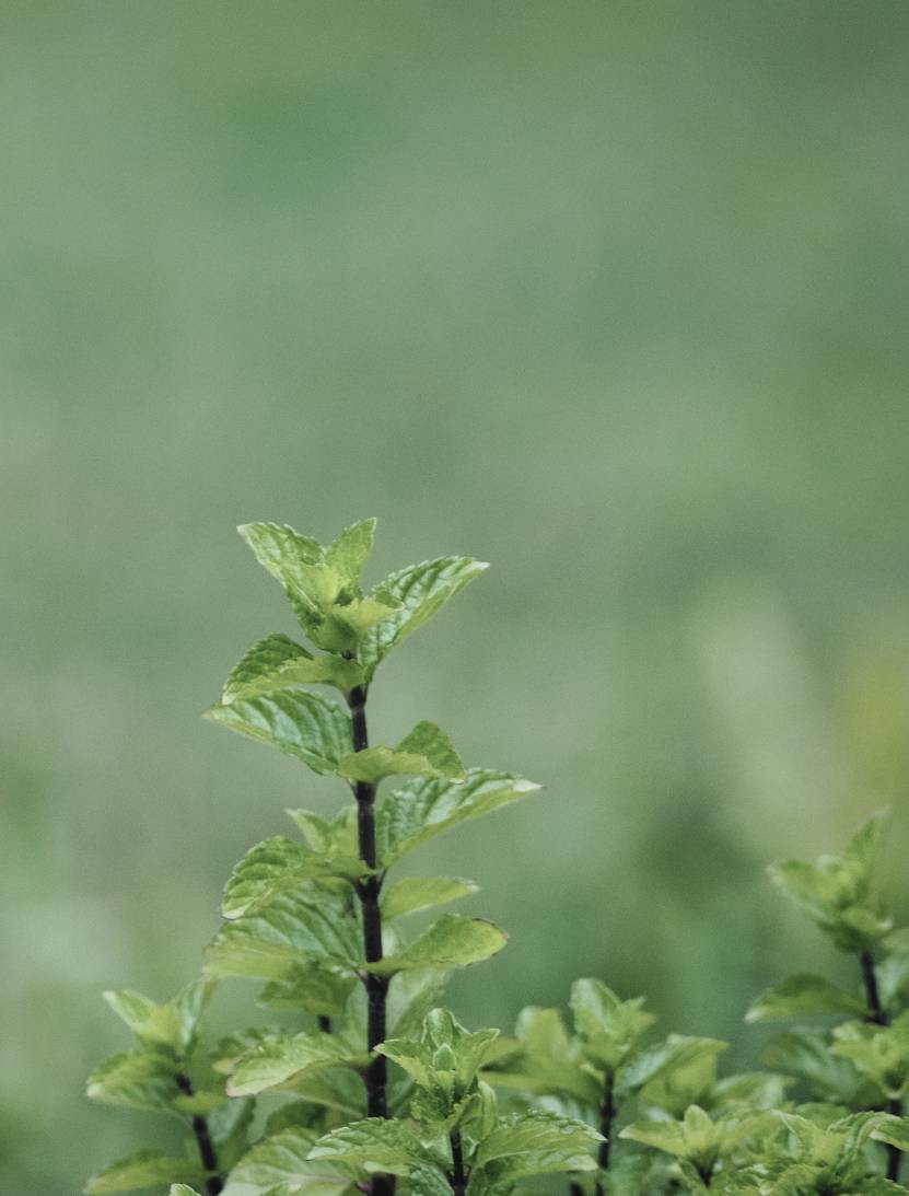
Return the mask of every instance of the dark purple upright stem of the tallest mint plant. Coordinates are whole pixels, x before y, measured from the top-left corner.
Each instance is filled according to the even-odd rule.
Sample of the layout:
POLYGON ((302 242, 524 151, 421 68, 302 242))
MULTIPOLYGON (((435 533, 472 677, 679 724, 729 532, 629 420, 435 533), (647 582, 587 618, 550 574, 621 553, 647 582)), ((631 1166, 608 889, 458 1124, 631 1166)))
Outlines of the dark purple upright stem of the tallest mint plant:
MULTIPOLYGON (((347 694, 347 704, 350 707, 352 740, 354 751, 362 751, 370 746, 370 736, 366 728, 366 687, 355 685, 347 694)), ((376 786, 370 781, 356 781, 354 785, 354 797, 356 798, 356 830, 359 836, 360 859, 367 868, 376 868, 376 786)), ((378 963, 382 959, 382 910, 379 908, 379 895, 382 892, 382 875, 373 872, 365 880, 356 885, 356 896, 360 898, 360 910, 362 914, 362 939, 364 954, 367 964, 378 963)), ((380 1042, 386 1038, 385 1033, 385 999, 389 991, 389 980, 386 976, 376 976, 366 972, 364 977, 366 988, 366 1046, 374 1051, 380 1042)), ((366 1069, 366 1116, 388 1117, 388 1060, 384 1055, 374 1055, 366 1069)), ((376 1176, 372 1180, 373 1196, 391 1196, 395 1191, 394 1176, 376 1176)))

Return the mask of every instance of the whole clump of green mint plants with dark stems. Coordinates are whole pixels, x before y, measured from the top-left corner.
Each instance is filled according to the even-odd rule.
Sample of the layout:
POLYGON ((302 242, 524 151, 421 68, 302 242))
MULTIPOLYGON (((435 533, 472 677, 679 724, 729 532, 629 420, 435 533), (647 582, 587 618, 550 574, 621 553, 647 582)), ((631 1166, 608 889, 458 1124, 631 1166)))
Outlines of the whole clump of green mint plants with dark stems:
POLYGON ((289 811, 299 836, 268 838, 239 861, 201 980, 163 1003, 105 994, 135 1045, 96 1069, 89 1096, 177 1117, 189 1136, 179 1155, 120 1159, 86 1192, 507 1196, 553 1174, 571 1196, 907 1190, 909 929, 895 929, 873 896, 880 818, 841 856, 771 869, 854 957, 856 986, 799 974, 763 993, 750 1021, 825 1019, 773 1039, 767 1070, 721 1076, 726 1043, 651 1039, 643 1000, 593 978, 572 986, 571 1027, 557 1009, 530 1007, 511 1037, 471 1032, 439 1005, 446 976, 495 954, 505 934, 447 913, 409 933, 413 914, 476 886, 390 874, 435 835, 537 786, 464 768, 432 722, 371 745, 366 708, 383 659, 484 566, 443 557, 366 592, 374 520, 328 547, 275 524, 239 531, 310 647, 282 633, 260 640, 208 718, 338 777, 352 800, 333 818, 289 811), (403 780, 379 797, 394 776, 403 780), (261 982, 260 1005, 293 1011, 300 1029, 255 1026, 205 1044, 206 1006, 227 977, 261 982))

